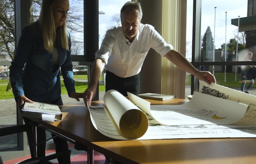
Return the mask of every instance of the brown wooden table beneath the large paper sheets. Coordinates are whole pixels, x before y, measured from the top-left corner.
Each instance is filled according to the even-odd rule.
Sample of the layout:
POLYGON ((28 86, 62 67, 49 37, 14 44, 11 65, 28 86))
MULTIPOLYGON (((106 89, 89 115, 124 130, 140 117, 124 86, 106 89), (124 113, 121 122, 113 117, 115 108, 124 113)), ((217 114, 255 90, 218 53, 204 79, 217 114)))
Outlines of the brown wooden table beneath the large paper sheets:
MULTIPOLYGON (((151 104, 183 104, 185 100, 151 101, 151 104)), ((101 105, 95 101, 92 105, 101 105)), ((124 164, 251 164, 256 162, 255 138, 206 138, 164 140, 114 140, 101 135, 91 124, 84 103, 61 107, 62 121, 53 124, 33 119, 80 144, 124 164)), ((93 161, 92 161, 93 163, 93 161)))

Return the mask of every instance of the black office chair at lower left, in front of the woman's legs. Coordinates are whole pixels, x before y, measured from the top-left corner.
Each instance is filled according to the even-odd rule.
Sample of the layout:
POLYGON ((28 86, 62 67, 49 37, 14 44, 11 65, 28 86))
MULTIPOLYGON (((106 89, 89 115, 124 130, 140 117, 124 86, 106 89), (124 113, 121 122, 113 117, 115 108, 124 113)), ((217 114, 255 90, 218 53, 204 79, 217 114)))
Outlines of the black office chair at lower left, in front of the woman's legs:
MULTIPOLYGON (((16 125, 16 126, 11 126, 11 127, 6 127, 6 128, 0 128, 0 137, 5 136, 5 135, 11 135, 11 134, 16 134, 20 132, 28 132, 30 130, 30 127, 27 125, 16 125)), ((30 158, 27 159, 23 162, 20 162, 19 164, 50 164, 52 162, 49 162, 49 160, 56 159, 61 156, 70 156, 71 150, 67 150, 65 152, 60 152, 60 153, 55 153, 53 155, 48 155, 45 157, 40 157, 40 158, 30 158)), ((1 155, 0 155, 0 164, 3 164, 1 155)))

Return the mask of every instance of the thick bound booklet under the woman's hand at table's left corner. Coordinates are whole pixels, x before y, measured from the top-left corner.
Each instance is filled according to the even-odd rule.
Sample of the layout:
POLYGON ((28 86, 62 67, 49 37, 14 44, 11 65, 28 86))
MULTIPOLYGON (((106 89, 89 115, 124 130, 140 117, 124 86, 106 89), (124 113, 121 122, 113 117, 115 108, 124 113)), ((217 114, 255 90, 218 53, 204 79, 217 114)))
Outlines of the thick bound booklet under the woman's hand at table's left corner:
POLYGON ((42 119, 47 117, 54 117, 54 120, 61 121, 62 113, 58 105, 55 104, 47 104, 36 102, 29 103, 25 102, 24 107, 22 110, 22 115, 24 117, 33 117, 33 118, 40 118, 42 119), (42 116, 43 115, 43 116, 42 116))

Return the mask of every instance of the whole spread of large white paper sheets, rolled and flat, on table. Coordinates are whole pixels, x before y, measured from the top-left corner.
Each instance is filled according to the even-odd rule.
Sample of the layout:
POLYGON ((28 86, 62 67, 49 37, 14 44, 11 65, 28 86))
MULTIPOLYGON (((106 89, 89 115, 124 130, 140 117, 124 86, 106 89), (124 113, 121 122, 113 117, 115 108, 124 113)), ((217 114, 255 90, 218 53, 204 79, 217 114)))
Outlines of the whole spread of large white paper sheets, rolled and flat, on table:
MULTIPOLYGON (((250 133, 242 131, 256 127, 255 104, 201 92, 194 92, 193 98, 182 105, 151 105, 129 92, 128 97, 110 90, 104 95, 103 108, 89 108, 92 124, 103 135, 120 140, 256 137, 256 128, 250 133)), ((255 96, 247 100, 255 100, 255 96)))

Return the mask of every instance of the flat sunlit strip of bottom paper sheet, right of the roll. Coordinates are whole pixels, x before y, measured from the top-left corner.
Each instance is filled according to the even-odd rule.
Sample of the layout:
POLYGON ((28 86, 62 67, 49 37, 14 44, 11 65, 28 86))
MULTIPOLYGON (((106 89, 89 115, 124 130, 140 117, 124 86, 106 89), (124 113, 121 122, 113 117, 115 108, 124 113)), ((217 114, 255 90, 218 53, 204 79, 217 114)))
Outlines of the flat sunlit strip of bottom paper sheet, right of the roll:
MULTIPOLYGON (((248 111, 255 113, 256 106, 251 104, 248 111)), ((249 114, 250 115, 250 114, 249 114)), ((255 114, 251 117, 255 118, 255 114)), ((148 131, 138 140, 176 139, 176 138, 255 138, 256 127, 244 125, 163 125, 148 115, 148 131)), ((252 120, 251 120, 252 121, 252 120)), ((252 121, 255 124, 255 120, 252 121)))

